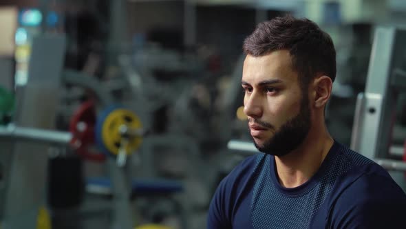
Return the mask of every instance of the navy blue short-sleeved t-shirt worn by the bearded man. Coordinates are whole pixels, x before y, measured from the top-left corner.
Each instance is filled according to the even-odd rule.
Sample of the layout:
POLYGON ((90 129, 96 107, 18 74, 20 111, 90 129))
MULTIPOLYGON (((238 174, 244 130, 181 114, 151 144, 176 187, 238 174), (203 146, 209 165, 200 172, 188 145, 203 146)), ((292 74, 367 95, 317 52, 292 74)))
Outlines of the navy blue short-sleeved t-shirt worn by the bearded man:
POLYGON ((406 195, 386 170, 334 142, 316 174, 279 184, 275 158, 248 157, 211 201, 208 228, 406 228, 406 195))

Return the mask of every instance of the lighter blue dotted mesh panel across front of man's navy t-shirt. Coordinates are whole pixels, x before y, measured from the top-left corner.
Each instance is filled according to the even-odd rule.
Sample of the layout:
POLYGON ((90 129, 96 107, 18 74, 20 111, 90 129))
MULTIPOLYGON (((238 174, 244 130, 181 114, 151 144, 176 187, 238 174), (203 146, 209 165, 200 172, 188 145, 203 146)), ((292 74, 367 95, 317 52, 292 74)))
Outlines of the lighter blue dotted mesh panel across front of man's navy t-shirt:
POLYGON ((273 183, 270 157, 273 156, 257 156, 251 203, 253 228, 308 228, 312 217, 330 194, 336 178, 354 166, 372 163, 370 159, 340 145, 327 161, 327 169, 320 181, 314 187, 293 196, 280 192, 277 184, 273 183))

